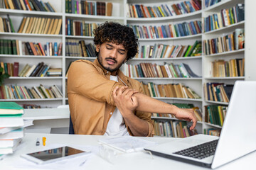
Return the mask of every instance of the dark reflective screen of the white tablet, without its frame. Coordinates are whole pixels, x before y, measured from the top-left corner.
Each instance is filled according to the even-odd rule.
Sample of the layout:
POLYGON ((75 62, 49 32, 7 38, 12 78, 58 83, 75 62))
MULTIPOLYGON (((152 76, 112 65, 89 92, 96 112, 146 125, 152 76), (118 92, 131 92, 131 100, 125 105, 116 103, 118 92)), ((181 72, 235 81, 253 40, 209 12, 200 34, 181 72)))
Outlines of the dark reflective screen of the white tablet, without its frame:
POLYGON ((85 151, 81 151, 79 149, 75 149, 73 147, 58 147, 54 149, 48 149, 41 152, 34 152, 28 154, 31 157, 35 157, 37 159, 40 159, 43 162, 49 161, 51 159, 58 159, 63 157, 68 157, 73 154, 79 154, 85 151))

